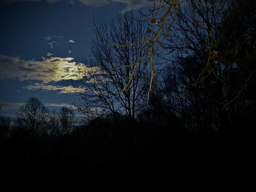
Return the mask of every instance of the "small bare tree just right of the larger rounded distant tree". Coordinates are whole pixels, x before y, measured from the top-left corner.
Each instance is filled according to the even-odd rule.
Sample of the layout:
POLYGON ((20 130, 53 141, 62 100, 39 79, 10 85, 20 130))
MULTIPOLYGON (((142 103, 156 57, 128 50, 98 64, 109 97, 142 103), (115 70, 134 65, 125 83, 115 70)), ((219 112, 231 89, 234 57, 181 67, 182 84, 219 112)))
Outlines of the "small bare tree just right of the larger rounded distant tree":
POLYGON ((71 133, 74 126, 75 113, 73 109, 68 107, 61 107, 59 113, 60 126, 56 129, 58 135, 67 136, 71 133))

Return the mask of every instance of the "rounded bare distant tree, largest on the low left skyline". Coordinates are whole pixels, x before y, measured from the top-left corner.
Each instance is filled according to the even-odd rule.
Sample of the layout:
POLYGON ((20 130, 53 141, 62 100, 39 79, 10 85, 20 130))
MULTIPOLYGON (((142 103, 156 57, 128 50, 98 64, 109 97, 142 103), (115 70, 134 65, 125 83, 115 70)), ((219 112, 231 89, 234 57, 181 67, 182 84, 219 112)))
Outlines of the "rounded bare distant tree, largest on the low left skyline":
POLYGON ((39 99, 30 97, 27 103, 20 107, 17 113, 17 119, 28 133, 32 136, 39 136, 46 127, 48 113, 49 110, 39 99))

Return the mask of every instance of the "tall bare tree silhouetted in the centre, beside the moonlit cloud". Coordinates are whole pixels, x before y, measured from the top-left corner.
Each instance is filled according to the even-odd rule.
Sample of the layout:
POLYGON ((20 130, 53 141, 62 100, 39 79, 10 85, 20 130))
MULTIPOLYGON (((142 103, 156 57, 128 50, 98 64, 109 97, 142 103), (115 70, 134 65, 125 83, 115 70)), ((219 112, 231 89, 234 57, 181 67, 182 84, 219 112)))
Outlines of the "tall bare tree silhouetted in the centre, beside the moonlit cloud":
POLYGON ((109 28, 104 25, 98 29, 100 35, 96 34, 92 44, 93 59, 77 71, 78 80, 74 82, 76 87, 84 88, 79 92, 80 102, 74 105, 87 118, 109 113, 116 118, 120 113, 134 119, 136 112, 145 107, 150 54, 148 45, 138 40, 152 34, 148 24, 140 20, 134 19, 132 12, 119 14, 109 28), (130 46, 118 46, 121 44, 130 46))

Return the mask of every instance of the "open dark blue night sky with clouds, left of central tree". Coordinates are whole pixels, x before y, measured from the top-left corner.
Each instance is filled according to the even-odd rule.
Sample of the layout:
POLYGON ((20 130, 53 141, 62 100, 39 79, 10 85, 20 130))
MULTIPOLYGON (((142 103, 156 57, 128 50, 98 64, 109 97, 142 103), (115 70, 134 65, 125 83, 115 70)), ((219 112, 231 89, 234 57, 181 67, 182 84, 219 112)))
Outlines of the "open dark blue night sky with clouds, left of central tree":
POLYGON ((0 0, 0 106, 15 116, 29 97, 49 109, 72 108, 75 63, 90 55, 96 24, 145 0, 0 0))

